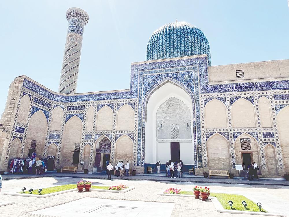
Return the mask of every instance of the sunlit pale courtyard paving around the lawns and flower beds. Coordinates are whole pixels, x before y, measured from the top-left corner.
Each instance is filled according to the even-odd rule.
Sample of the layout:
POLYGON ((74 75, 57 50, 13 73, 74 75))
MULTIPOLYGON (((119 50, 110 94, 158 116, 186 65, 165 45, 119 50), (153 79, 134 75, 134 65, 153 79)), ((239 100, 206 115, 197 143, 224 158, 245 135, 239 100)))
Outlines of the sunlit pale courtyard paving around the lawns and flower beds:
MULTIPOLYGON (((63 174, 67 175, 67 174, 63 174)), ((63 209, 71 210, 69 212, 73 212, 75 210, 75 206, 78 210, 79 216, 86 216, 83 209, 91 209, 93 206, 97 206, 100 199, 108 199, 102 201, 110 201, 115 200, 115 204, 122 203, 125 201, 132 201, 128 204, 144 204, 141 202, 150 202, 152 204, 160 203, 159 207, 156 208, 153 205, 151 208, 144 208, 144 211, 147 209, 147 216, 149 217, 149 213, 157 213, 158 216, 171 216, 171 217, 191 217, 191 216, 234 216, 234 217, 249 217, 249 214, 225 214, 225 213, 217 213, 215 207, 211 201, 201 201, 196 200, 192 197, 183 197, 183 196, 159 196, 157 195, 160 191, 165 190, 168 187, 176 187, 181 190, 191 190, 191 188, 195 185, 201 186, 209 186, 211 188, 211 192, 222 192, 222 193, 232 193, 232 194, 242 194, 247 198, 253 200, 254 202, 262 203, 264 209, 271 213, 280 213, 285 216, 288 215, 289 210, 289 186, 285 185, 255 185, 255 183, 247 184, 225 184, 225 183, 188 183, 188 182, 178 182, 175 180, 167 181, 167 180, 158 180, 158 181, 139 181, 139 180, 128 180, 128 179, 115 179, 113 176, 112 181, 106 179, 96 179, 96 178, 88 178, 85 176, 89 176, 92 174, 84 175, 84 174, 76 174, 77 177, 56 177, 56 176, 47 176, 38 177, 34 179, 25 179, 23 175, 21 178, 24 179, 6 179, 5 176, 16 176, 18 175, 4 175, 3 178, 3 188, 0 194, 0 201, 15 201, 14 205, 8 205, 0 207, 0 216, 7 217, 18 217, 18 216, 37 216, 37 217, 51 217, 51 216, 59 216, 59 212, 63 209), (134 186, 135 189, 123 194, 116 194, 110 192, 82 192, 78 193, 68 192, 65 194, 60 194, 56 196, 51 196, 47 198, 27 198, 21 196, 10 196, 3 195, 5 192, 19 192, 23 187, 26 189, 33 188, 45 188, 52 187, 55 185, 63 185, 76 183, 80 179, 92 181, 93 185, 118 185, 120 183, 134 186), (90 198, 91 200, 89 200, 90 198), (79 200, 81 199, 81 200, 79 200), (74 202, 73 202, 74 201, 74 202), (83 203, 81 201, 90 201, 90 205, 88 202, 83 203), (95 201, 95 202, 94 202, 95 201), (73 203, 72 203, 73 202, 73 203), (170 207, 172 207, 171 215, 165 214, 167 210, 163 210, 163 215, 160 215, 160 211, 165 209, 162 206, 162 203, 170 203, 170 207), (73 205, 74 204, 74 205, 73 205), (81 204, 84 204, 83 206, 81 204), (94 204, 94 205, 93 205, 94 204), (61 205, 61 206, 58 206, 61 205), (86 205, 86 206, 85 206, 86 205), (51 208, 50 208, 51 207, 51 208), (46 209, 48 208, 48 209, 46 209), (42 210, 45 209, 45 210, 42 210), (152 210, 155 209, 155 212, 152 210)), ((138 176, 132 176, 128 178, 139 178, 138 176)), ((144 178, 144 177, 140 177, 144 178)), ((160 179, 160 177, 158 177, 160 179)), ((185 178, 184 178, 185 179, 185 178)), ((205 179, 208 181, 208 179, 205 179)), ((234 181, 234 180, 232 180, 234 181)), ((268 181, 268 180, 266 180, 268 181)), ((276 180, 275 180, 276 181, 276 180)), ((280 181, 278 181, 279 184, 280 181)), ((107 203, 108 203, 107 202, 107 203)), ((158 206, 157 206, 158 207, 158 206)), ((86 210, 87 211, 87 210, 86 210)), ((68 211, 67 211, 68 212, 68 211)), ((69 214, 69 212, 67 214, 69 214)), ((75 213, 74 213, 75 215, 75 213)), ((77 215, 75 215, 77 216, 77 215)), ((89 215, 87 215, 89 216, 89 215)), ((109 216, 109 215, 106 215, 109 216)), ((111 214, 111 216, 116 216, 111 214)), ((118 217, 121 215, 118 215, 118 217)), ((254 215, 256 217, 260 215, 254 215)), ((288 215, 289 216, 289 215, 288 215)))

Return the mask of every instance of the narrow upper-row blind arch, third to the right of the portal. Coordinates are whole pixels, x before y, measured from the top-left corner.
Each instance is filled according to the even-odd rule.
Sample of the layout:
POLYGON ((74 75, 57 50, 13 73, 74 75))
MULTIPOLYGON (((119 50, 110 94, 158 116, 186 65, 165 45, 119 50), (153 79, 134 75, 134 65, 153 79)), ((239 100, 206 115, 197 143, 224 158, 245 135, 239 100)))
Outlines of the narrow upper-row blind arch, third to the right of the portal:
POLYGON ((260 112, 260 122, 262 127, 273 127, 272 122, 272 109, 270 106, 270 101, 267 97, 261 96, 259 98, 259 112, 260 112))

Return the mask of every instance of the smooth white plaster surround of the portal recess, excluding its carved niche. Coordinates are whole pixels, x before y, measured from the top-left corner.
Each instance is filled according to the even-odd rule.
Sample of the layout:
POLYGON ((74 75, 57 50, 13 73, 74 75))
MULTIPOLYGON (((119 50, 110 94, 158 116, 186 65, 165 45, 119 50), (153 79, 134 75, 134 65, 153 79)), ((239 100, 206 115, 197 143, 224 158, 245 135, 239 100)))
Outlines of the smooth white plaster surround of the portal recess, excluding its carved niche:
MULTIPOLYGON (((191 135, 194 135, 193 120, 195 119, 193 119, 192 115, 194 108, 192 107, 193 106, 192 99, 190 98, 189 94, 184 89, 182 89, 177 84, 174 84, 173 82, 166 82, 165 84, 160 84, 158 87, 155 88, 155 91, 152 93, 149 99, 147 99, 147 104, 145 106, 146 123, 145 123, 144 163, 155 163, 158 160, 160 160, 161 163, 164 163, 171 157, 170 146, 167 146, 166 148, 159 148, 156 142, 156 128, 157 128, 156 114, 158 108, 171 97, 181 100, 190 109, 191 125, 192 125, 191 135), (160 153, 160 151, 162 153, 160 153)), ((186 148, 185 152, 184 151, 182 152, 182 150, 180 150, 180 155, 182 154, 184 154, 185 156, 180 157, 184 162, 186 162, 186 164, 194 164, 193 163, 194 145, 192 140, 190 141, 190 145, 186 148)))

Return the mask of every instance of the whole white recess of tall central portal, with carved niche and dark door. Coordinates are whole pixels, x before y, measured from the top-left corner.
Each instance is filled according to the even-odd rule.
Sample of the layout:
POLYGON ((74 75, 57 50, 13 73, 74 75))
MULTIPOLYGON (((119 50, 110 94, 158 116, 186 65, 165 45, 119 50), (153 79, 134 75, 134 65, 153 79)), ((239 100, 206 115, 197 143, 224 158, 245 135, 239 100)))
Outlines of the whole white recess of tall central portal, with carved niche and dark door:
POLYGON ((194 164, 193 103, 177 84, 161 84, 146 106, 144 167, 161 161, 194 164))

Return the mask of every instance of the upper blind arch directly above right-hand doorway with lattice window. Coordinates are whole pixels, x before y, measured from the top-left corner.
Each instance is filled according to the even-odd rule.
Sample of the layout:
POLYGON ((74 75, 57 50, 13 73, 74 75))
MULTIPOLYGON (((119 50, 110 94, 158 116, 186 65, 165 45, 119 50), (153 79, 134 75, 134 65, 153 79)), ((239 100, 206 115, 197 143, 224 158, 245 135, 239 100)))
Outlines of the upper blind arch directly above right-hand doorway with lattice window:
POLYGON ((231 105, 231 110, 234 128, 256 127, 255 108, 250 101, 241 97, 231 105))

